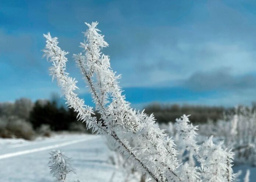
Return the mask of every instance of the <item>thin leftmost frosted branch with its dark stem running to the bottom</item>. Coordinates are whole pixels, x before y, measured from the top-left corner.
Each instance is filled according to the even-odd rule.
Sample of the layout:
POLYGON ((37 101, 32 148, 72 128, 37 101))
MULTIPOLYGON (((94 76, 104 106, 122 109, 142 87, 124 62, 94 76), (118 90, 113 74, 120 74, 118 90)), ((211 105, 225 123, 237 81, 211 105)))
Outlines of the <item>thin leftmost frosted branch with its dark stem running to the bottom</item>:
MULTIPOLYGON (((92 117, 94 114, 92 111, 92 107, 86 106, 82 99, 79 99, 77 94, 73 91, 77 89, 75 85, 77 81, 75 79, 68 76, 68 73, 65 72, 65 66, 67 62, 67 58, 65 55, 67 52, 60 49, 57 46, 57 38, 51 38, 50 33, 44 35, 46 40, 46 49, 43 50, 45 52, 45 56, 47 58, 50 57, 50 61, 53 63, 53 67, 50 68, 50 74, 53 75, 53 78, 57 79, 58 85, 62 88, 65 98, 67 100, 67 104, 69 107, 74 108, 74 110, 78 113, 78 119, 82 121, 86 121, 87 128, 93 128, 93 132, 97 132, 98 134, 109 134, 111 135, 122 147, 120 149, 121 152, 126 151, 128 155, 134 158, 139 165, 145 169, 147 174, 149 174, 155 181, 159 181, 154 172, 152 172, 142 161, 140 158, 136 156, 136 151, 132 151, 129 148, 129 144, 125 140, 121 140, 113 128, 106 127, 102 125, 102 122, 96 120, 96 117, 92 117)), ((105 122, 106 124, 106 122, 105 122)))

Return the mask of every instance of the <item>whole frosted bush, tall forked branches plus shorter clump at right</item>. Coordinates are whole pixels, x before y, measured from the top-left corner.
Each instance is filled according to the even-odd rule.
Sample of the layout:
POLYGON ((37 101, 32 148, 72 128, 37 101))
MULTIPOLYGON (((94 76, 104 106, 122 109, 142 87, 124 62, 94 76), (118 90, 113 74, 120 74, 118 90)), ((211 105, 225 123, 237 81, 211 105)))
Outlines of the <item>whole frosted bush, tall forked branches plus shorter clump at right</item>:
POLYGON ((95 109, 101 115, 99 121, 93 108, 85 105, 84 100, 74 92, 77 81, 65 72, 65 55, 68 52, 58 47, 57 38, 52 38, 50 33, 44 35, 45 56, 53 64, 50 74, 53 79, 57 79, 67 105, 78 113, 78 119, 85 121, 87 128, 92 128, 93 132, 110 136, 118 151, 133 162, 135 169, 142 170, 152 181, 232 181, 233 154, 223 150, 221 143, 214 144, 212 138, 198 146, 194 141, 196 128, 189 126, 188 117, 183 116, 178 122, 179 134, 184 140, 184 146, 198 160, 200 166, 178 161, 173 139, 168 138, 155 124, 153 114, 147 115, 144 111, 135 111, 130 107, 118 86, 120 75, 116 75, 111 69, 109 56, 101 53, 101 49, 108 44, 104 41, 104 36, 99 34, 97 24, 86 23, 89 27, 84 32, 87 40, 81 43, 85 54, 74 54, 73 57, 90 89, 95 109))

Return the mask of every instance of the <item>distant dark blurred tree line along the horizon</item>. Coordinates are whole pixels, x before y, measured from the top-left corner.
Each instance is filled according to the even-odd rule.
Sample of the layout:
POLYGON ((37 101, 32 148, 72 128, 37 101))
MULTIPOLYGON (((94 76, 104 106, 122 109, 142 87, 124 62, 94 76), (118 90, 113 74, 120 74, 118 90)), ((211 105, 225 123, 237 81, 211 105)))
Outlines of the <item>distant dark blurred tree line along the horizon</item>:
MULTIPOLYGON (((250 108, 255 109, 256 104, 253 103, 250 108)), ((154 113, 159 123, 175 122, 175 119, 183 114, 191 115, 189 118, 193 123, 204 123, 209 120, 214 122, 234 111, 235 108, 160 103, 152 103, 145 107, 145 112, 154 113)), ((100 119, 99 113, 95 113, 100 119)), ((85 124, 77 122, 77 114, 65 107, 57 96, 51 100, 37 100, 35 103, 26 98, 18 99, 14 103, 0 103, 0 133, 2 131, 2 135, 9 136, 9 131, 16 130, 21 125, 24 125, 24 128, 31 128, 31 131, 39 131, 42 126, 48 126, 51 131, 86 132, 85 124)))

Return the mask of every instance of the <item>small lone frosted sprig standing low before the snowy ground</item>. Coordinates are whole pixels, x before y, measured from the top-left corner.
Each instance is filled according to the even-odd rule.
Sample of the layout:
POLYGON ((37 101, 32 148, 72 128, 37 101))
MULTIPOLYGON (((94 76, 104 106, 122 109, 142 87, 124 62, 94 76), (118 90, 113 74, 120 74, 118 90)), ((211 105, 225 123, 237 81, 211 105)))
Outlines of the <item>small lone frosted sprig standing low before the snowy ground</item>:
POLYGON ((75 169, 72 168, 70 159, 64 155, 60 150, 52 150, 49 163, 50 173, 53 174, 58 181, 67 182, 67 175, 71 172, 76 174, 75 169))

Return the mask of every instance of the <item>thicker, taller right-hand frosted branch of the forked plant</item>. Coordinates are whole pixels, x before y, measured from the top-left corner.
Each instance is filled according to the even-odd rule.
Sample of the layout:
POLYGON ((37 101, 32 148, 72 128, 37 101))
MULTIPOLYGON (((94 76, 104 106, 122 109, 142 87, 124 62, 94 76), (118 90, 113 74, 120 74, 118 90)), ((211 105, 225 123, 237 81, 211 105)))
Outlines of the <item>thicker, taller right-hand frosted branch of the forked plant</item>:
MULTIPOLYGON (((109 57, 103 54, 100 58, 100 48, 106 47, 108 44, 104 41, 103 36, 98 33, 99 30, 96 29, 97 22, 93 22, 92 25, 86 25, 89 26, 88 31, 85 32, 87 41, 81 43, 81 47, 85 49, 86 54, 82 56, 80 53, 74 55, 74 58, 91 89, 96 108, 101 113, 105 124, 109 125, 111 128, 122 126, 122 128, 126 129, 122 132, 126 132, 128 135, 132 136, 132 139, 135 141, 137 141, 139 137, 140 140, 148 141, 157 139, 163 143, 165 135, 163 135, 163 131, 160 131, 159 128, 154 125, 153 115, 147 116, 143 112, 136 113, 136 111, 132 110, 130 104, 125 101, 122 90, 118 86, 117 79, 120 78, 120 75, 116 76, 115 72, 110 68, 109 57), (92 72, 95 72, 96 75, 97 80, 95 84, 90 74, 92 72), (139 133, 141 135, 138 135, 139 130, 146 131, 147 128, 155 128, 155 131, 150 133, 151 135, 148 135, 148 133, 139 133), (161 137, 157 137, 157 135, 161 137)), ((120 130, 120 127, 118 130, 120 130)), ((171 171, 169 175, 175 176, 174 170, 177 168, 177 159, 175 158, 176 151, 174 147, 171 146, 171 139, 165 141, 166 144, 164 144, 165 146, 161 148, 161 150, 157 148, 156 145, 152 146, 152 143, 148 143, 145 148, 147 149, 150 145, 154 147, 157 158, 162 157, 162 159, 160 161, 153 159, 153 161, 159 163, 158 165, 161 167, 164 166, 168 168, 168 170, 171 171), (172 155, 169 156, 170 154, 172 155), (172 164, 168 164, 168 160, 164 159, 166 157, 172 160, 172 164)), ((140 146, 140 148, 142 148, 142 146, 140 146)), ((144 154, 146 154, 145 151, 144 154)), ((152 153, 149 153, 149 155, 152 156, 152 153)))

